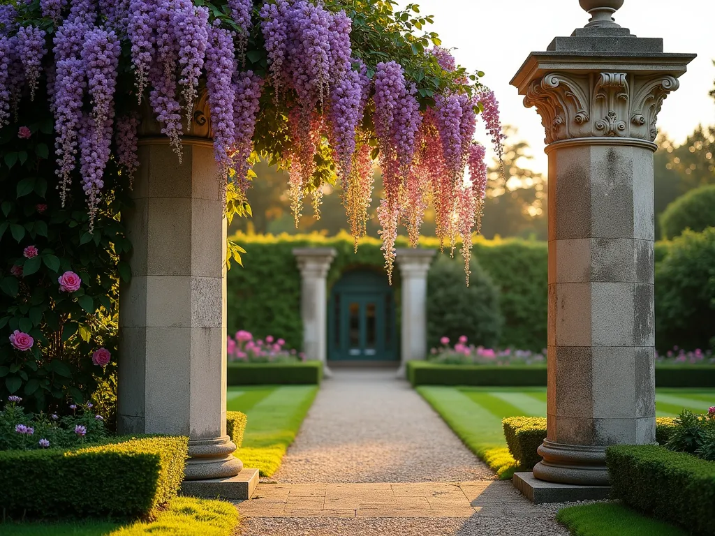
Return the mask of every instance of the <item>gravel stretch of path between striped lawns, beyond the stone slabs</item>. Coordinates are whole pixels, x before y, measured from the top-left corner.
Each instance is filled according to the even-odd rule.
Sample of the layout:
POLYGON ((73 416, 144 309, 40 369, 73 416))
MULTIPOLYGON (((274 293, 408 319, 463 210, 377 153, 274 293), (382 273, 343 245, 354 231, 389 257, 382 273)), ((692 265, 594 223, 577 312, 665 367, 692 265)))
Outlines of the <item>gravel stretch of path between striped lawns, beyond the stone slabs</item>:
POLYGON ((337 369, 273 480, 458 482, 493 479, 410 385, 388 370, 337 369))

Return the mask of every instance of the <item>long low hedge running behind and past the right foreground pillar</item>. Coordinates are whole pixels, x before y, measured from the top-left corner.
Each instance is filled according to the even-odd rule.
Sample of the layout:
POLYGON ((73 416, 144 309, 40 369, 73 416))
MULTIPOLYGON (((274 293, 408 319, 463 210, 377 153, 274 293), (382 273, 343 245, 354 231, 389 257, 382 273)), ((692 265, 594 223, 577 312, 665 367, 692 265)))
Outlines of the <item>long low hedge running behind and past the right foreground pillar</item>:
MULTIPOLYGON (((418 385, 546 387, 546 365, 440 364, 410 361, 407 374, 418 385)), ((656 365, 656 387, 715 387, 713 365, 656 365)))

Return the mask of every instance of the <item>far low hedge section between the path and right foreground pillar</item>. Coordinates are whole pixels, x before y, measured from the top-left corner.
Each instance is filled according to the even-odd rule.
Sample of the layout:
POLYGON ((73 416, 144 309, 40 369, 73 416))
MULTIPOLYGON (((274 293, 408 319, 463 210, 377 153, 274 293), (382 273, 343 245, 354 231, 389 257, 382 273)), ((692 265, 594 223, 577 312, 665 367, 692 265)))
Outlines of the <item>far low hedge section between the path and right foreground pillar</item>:
POLYGON ((408 379, 418 385, 497 385, 531 387, 546 385, 543 365, 510 365, 498 367, 486 364, 438 364, 410 361, 408 379))

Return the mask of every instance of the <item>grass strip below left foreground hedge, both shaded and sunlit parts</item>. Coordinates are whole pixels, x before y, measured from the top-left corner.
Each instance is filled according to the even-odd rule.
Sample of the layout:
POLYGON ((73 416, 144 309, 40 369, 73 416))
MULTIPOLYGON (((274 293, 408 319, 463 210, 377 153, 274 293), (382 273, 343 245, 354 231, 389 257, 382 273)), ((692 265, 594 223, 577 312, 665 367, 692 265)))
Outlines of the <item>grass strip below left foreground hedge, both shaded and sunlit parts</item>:
POLYGON ((238 525, 230 502, 177 497, 153 522, 0 523, 1 536, 230 536, 238 525))

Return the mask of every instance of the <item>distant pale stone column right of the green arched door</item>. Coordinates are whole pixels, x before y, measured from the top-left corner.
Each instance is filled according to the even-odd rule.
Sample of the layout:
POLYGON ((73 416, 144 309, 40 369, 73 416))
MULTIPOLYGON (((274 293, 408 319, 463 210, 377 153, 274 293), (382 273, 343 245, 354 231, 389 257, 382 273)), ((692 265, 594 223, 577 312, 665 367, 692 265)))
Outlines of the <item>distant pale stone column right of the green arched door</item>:
POLYGON ((402 278, 402 332, 400 369, 405 377, 407 362, 427 358, 427 273, 434 249, 398 249, 397 262, 402 278))

